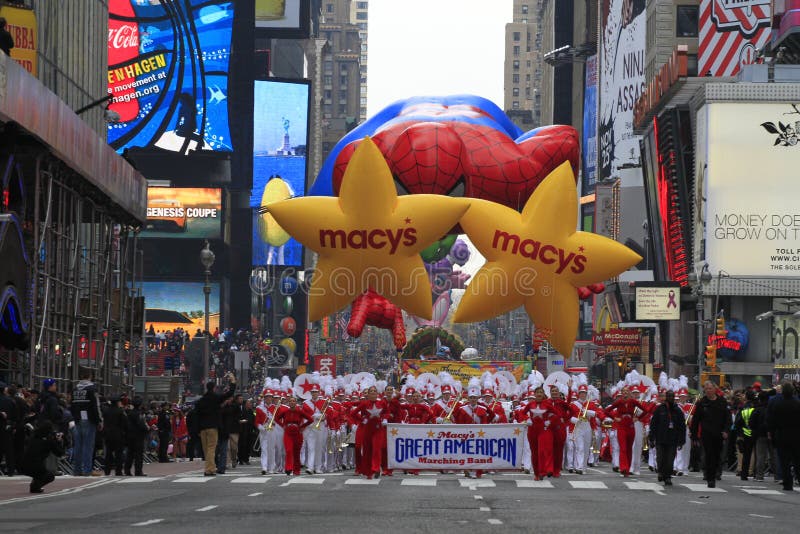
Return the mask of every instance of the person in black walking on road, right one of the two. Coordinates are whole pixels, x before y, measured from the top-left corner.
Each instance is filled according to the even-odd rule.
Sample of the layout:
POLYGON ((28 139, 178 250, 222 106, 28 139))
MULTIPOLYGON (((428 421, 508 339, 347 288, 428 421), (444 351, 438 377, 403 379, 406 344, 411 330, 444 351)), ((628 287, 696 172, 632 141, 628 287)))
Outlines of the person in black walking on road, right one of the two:
POLYGON ((717 395, 717 386, 707 380, 703 384, 705 396, 697 401, 692 416, 692 441, 700 441, 703 446, 703 479, 709 488, 717 485, 724 440, 728 439, 730 412, 725 399, 717 395))

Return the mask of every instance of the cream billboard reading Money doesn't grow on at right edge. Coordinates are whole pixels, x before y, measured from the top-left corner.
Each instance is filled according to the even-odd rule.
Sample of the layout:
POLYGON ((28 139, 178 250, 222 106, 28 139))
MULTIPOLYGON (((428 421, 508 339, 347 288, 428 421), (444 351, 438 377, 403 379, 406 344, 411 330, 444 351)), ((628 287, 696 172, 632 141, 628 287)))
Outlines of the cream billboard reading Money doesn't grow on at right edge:
POLYGON ((700 110, 707 125, 705 239, 712 273, 800 273, 800 210, 791 194, 800 166, 799 108, 719 103, 700 110))

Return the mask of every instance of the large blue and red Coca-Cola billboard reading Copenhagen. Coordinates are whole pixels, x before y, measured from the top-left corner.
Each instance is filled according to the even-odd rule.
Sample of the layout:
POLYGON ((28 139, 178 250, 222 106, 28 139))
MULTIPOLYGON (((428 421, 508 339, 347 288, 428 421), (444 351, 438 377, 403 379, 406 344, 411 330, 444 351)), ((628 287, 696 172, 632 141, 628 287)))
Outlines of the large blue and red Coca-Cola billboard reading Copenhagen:
POLYGON ((108 142, 231 151, 228 62, 233 2, 110 0, 108 142))

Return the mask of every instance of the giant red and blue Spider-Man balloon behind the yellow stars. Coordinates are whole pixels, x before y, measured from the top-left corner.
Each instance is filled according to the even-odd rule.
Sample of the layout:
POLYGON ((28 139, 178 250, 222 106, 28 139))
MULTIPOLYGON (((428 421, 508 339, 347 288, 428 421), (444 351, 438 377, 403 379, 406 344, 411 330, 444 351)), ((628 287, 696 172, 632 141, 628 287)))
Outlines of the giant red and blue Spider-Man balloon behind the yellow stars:
MULTIPOLYGON (((345 135, 325 160, 309 195, 338 194, 350 157, 367 135, 389 163, 400 194, 466 196, 521 209, 558 165, 569 161, 576 170, 580 163, 578 134, 570 126, 523 134, 485 98, 413 97, 387 106, 345 135)), ((426 261, 434 298, 441 298, 433 279, 440 273, 426 261)), ((461 275, 454 281, 457 287, 466 282, 461 275)), ((449 302, 438 305, 446 315, 449 302)), ((348 333, 358 337, 366 324, 392 330, 398 348, 405 343, 400 309, 374 291, 353 302, 348 333)))

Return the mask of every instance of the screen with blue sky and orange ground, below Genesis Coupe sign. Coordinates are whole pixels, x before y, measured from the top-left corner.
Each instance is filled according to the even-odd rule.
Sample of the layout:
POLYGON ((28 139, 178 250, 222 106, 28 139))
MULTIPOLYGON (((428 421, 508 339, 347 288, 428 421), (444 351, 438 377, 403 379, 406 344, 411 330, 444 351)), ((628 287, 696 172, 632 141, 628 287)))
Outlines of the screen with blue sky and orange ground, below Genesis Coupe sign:
MULTIPOLYGON (((205 328, 203 282, 142 282, 145 322, 158 331, 183 328, 194 333, 205 328)), ((214 282, 209 295, 209 328, 219 325, 219 284, 214 282)))

